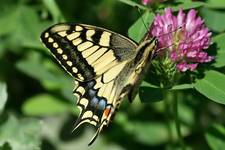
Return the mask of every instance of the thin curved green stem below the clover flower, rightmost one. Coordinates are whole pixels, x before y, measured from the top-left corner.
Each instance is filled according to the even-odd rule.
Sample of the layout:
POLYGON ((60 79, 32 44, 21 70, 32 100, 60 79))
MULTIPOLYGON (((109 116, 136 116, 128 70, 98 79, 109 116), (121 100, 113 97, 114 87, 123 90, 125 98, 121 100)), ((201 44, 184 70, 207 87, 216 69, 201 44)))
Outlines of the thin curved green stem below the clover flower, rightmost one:
POLYGON ((181 126, 180 126, 180 121, 179 121, 179 117, 178 117, 178 98, 177 98, 177 93, 174 92, 174 116, 175 116, 175 125, 176 125, 176 131, 177 131, 177 136, 178 136, 178 141, 179 144, 181 146, 182 150, 185 150, 185 144, 182 138, 182 134, 181 134, 181 126))

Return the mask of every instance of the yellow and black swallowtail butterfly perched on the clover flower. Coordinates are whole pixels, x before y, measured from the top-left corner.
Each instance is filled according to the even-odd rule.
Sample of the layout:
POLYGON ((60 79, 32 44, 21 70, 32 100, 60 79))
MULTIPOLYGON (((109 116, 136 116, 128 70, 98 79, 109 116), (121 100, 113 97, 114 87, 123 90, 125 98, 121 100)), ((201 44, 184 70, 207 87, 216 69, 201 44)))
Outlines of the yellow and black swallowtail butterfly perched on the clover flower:
POLYGON ((140 44, 116 32, 86 24, 60 23, 46 29, 41 41, 75 79, 79 117, 97 130, 92 144, 115 115, 125 96, 132 101, 154 57, 157 39, 147 34, 140 44))

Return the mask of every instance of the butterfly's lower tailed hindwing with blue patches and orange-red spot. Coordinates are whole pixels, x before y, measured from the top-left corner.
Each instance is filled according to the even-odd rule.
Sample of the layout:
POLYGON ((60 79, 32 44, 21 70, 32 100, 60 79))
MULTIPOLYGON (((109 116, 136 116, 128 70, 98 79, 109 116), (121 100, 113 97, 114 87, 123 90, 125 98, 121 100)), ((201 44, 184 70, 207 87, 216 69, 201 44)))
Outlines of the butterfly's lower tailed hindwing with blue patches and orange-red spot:
POLYGON ((121 99, 125 96, 121 94, 125 78, 127 78, 126 73, 129 70, 128 65, 128 60, 123 61, 95 79, 86 82, 75 81, 77 87, 74 94, 78 97, 77 106, 80 109, 75 129, 86 122, 97 127, 90 144, 109 123, 121 99))

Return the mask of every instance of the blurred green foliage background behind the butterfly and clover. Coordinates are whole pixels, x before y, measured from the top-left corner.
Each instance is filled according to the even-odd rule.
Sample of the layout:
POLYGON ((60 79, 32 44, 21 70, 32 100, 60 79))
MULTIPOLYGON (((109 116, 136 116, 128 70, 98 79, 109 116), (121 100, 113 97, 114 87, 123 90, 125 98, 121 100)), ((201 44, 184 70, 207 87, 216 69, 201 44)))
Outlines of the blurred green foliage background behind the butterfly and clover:
MULTIPOLYGON (((207 1, 205 6, 187 2, 184 6, 190 8, 199 4, 196 7, 214 35, 225 31, 223 0, 207 1)), ((179 149, 170 106, 174 96, 179 100, 178 118, 187 149, 223 148, 224 106, 193 89, 168 92, 164 101, 141 103, 140 98, 149 99, 147 82, 132 104, 123 101, 92 146, 87 146, 92 126, 71 132, 78 115, 74 81, 43 47, 41 32, 67 21, 127 35, 139 17, 136 8, 117 0, 0 0, 0 150, 179 149)))

